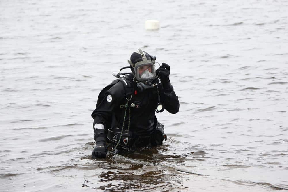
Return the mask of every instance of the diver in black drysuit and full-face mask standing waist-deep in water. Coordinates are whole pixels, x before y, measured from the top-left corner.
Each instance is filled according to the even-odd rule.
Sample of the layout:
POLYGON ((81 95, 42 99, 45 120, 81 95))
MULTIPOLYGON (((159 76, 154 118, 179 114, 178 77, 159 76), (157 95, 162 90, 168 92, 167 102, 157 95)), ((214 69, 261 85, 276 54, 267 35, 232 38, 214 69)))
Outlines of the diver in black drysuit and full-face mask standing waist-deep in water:
POLYGON ((92 158, 106 157, 107 150, 134 152, 167 140, 155 112, 166 109, 175 114, 179 100, 170 83, 170 66, 162 63, 155 70, 155 60, 138 49, 128 60, 130 67, 120 69, 130 68, 132 73, 113 73, 118 79, 100 92, 91 115, 96 142, 92 158))

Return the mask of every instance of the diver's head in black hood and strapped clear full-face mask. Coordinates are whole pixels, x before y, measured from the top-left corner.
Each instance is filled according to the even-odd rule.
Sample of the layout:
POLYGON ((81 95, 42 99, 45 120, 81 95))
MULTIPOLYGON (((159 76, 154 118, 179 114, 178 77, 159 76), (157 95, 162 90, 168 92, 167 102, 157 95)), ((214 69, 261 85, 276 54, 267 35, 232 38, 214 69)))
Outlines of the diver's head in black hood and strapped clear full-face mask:
POLYGON ((138 81, 147 81, 156 77, 155 60, 156 57, 138 49, 139 52, 132 53, 128 63, 135 78, 138 81))

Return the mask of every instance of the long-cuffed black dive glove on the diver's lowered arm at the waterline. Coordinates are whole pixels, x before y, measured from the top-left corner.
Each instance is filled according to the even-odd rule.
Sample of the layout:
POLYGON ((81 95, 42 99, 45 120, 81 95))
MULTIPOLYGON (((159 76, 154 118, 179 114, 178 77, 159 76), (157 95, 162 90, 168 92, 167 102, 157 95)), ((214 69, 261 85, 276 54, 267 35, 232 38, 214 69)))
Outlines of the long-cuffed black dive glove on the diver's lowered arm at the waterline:
POLYGON ((105 141, 105 133, 103 129, 95 129, 94 130, 94 139, 96 142, 96 146, 92 151, 91 157, 94 158, 105 158, 107 154, 107 145, 105 141))

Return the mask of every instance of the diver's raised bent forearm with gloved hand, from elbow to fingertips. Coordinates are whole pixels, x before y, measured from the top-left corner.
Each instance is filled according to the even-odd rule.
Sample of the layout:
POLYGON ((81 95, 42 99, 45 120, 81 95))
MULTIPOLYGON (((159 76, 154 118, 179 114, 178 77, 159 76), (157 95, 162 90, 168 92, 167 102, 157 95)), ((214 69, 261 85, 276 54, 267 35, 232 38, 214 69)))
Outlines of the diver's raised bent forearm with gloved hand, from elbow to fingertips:
POLYGON ((173 86, 170 83, 170 66, 166 63, 162 63, 160 68, 156 70, 156 74, 158 73, 160 75, 164 92, 164 94, 161 94, 161 100, 165 109, 169 113, 175 114, 179 111, 180 104, 173 86))

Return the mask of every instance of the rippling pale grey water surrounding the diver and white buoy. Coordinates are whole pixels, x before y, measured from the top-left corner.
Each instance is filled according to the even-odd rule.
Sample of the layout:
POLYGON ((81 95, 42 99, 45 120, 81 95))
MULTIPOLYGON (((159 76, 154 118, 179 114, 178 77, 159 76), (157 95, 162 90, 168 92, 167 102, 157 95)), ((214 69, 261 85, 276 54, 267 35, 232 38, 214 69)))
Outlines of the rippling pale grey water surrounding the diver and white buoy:
POLYGON ((1 0, 0 191, 288 188, 287 10, 284 0, 1 0), (145 31, 148 19, 160 29, 145 31), (155 165, 90 159, 98 94, 138 48, 171 66, 180 111, 157 114, 168 140, 127 156, 155 165))

